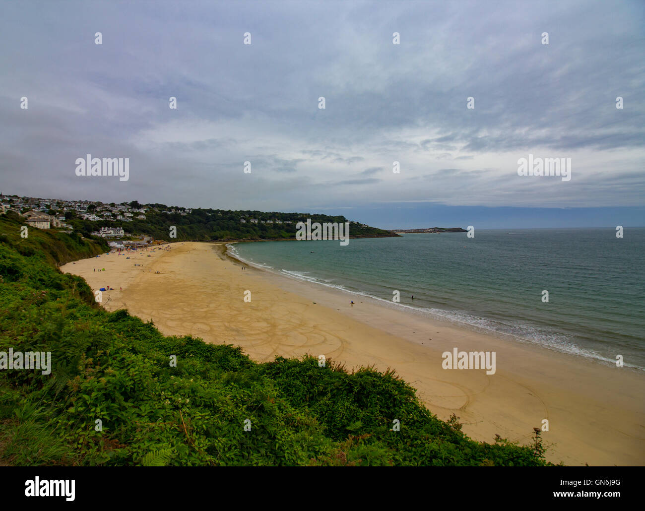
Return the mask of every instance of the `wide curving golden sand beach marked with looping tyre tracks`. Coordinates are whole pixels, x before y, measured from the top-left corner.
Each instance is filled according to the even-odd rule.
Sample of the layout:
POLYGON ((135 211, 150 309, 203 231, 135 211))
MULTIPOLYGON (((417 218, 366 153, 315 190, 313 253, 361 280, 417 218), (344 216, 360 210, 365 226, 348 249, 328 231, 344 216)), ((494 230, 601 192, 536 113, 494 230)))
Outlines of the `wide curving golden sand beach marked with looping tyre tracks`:
POLYGON ((174 243, 101 255, 61 270, 84 277, 93 290, 110 286, 103 292, 108 310, 126 308, 152 319, 164 334, 242 346, 255 361, 308 353, 350 370, 393 368, 434 414, 460 417, 473 439, 491 442, 499 434, 529 443, 533 428, 547 419, 542 437, 553 463, 645 464, 642 374, 250 266, 242 270, 221 255, 222 248, 174 243), (244 301, 246 291, 250 302, 244 301), (495 374, 442 368, 442 352, 455 347, 496 352, 495 374))

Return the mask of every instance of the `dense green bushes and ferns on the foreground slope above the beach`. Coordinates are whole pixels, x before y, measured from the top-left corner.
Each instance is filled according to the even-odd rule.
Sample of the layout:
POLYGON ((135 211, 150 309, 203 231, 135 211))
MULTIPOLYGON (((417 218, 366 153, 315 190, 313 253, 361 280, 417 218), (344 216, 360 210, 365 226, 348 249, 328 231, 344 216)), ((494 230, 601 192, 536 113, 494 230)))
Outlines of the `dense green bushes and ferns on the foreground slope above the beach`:
POLYGON ((0 370, 0 465, 546 464, 537 441, 472 441, 392 372, 254 363, 106 312, 55 267, 100 247, 20 225, 0 217, 0 352, 52 352, 52 372, 0 370))

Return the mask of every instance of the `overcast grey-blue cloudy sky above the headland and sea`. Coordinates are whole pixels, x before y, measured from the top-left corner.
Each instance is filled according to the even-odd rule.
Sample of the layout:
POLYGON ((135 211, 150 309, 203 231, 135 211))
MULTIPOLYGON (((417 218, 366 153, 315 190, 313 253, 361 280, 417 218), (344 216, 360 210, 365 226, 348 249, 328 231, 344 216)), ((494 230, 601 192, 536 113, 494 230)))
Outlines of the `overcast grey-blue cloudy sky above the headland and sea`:
POLYGON ((381 228, 645 225, 642 0, 0 12, 5 194, 381 228), (76 175, 86 154, 129 158, 128 180, 76 175), (571 179, 518 175, 530 154, 570 158, 571 179))

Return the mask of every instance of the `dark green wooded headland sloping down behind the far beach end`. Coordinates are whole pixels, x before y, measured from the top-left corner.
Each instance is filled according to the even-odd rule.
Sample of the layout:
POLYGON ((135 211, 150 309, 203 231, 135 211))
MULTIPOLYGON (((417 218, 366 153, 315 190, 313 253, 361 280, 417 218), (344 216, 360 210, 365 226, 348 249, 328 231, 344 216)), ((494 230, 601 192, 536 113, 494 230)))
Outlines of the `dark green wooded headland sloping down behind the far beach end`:
MULTIPOLYGON (((194 209, 191 213, 162 213, 167 206, 159 204, 146 205, 146 219, 134 218, 123 221, 88 221, 78 217, 75 212, 67 212, 68 223, 85 236, 101 227, 123 227, 132 234, 151 235, 155 239, 170 241, 170 228, 177 228, 175 241, 229 241, 232 239, 292 239, 297 231, 296 224, 306 222, 348 221, 344 216, 330 216, 302 213, 279 213, 260 211, 225 211, 213 209, 194 209), (155 208, 155 209, 152 209, 155 208), (157 211, 158 210, 158 211, 157 211), (242 220, 244 219, 244 222, 242 220), (256 219, 257 223, 252 223, 256 219), (282 222, 277 223, 275 220, 282 222), (266 223, 263 223, 266 222, 266 223), (269 223, 273 222, 273 223, 269 223)), ((177 208, 180 211, 183 208, 177 208)), ((393 236, 390 231, 364 226, 350 222, 350 237, 384 237, 393 236)))

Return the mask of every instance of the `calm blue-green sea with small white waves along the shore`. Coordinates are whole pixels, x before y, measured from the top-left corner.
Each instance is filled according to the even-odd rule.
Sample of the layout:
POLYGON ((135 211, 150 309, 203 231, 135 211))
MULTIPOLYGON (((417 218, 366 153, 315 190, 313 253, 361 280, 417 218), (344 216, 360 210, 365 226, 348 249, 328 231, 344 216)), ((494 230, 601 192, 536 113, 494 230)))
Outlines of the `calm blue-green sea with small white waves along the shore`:
POLYGON ((476 230, 228 250, 293 279, 599 363, 621 356, 645 371, 643 227, 622 238, 615 228, 476 230))

